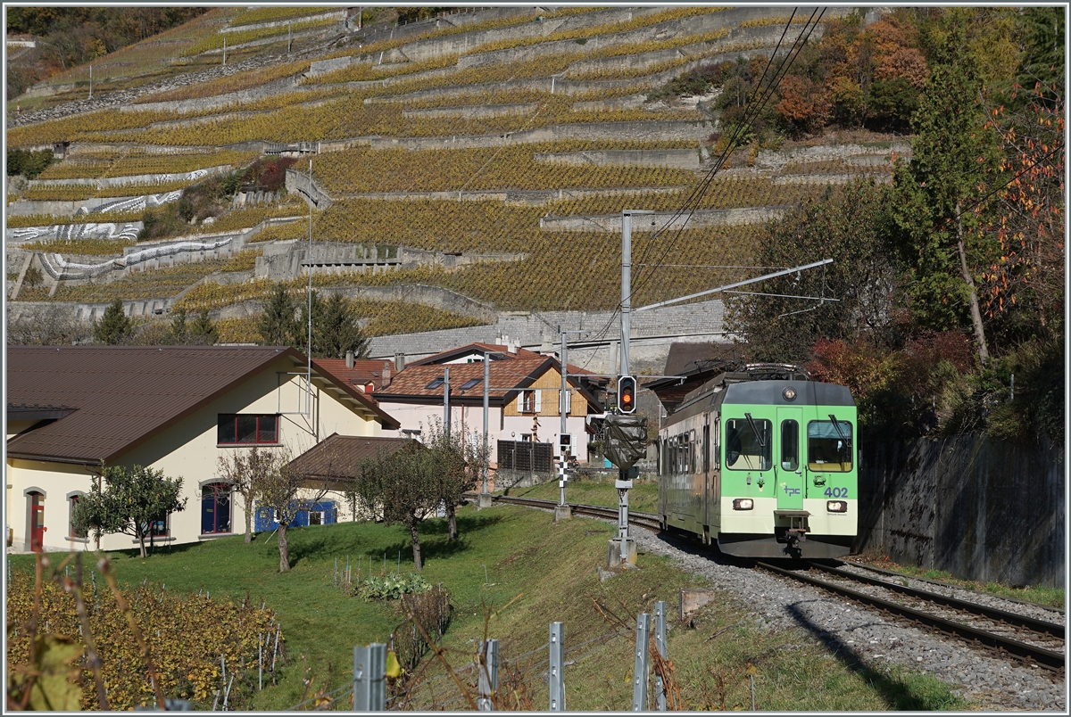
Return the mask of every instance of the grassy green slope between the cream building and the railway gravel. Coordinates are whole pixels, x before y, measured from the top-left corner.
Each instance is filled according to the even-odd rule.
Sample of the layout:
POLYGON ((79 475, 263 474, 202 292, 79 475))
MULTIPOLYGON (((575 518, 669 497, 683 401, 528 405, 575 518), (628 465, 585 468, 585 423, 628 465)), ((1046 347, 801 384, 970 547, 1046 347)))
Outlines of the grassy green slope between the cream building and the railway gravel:
MULTIPOLYGON (((605 564, 606 540, 613 525, 575 519, 553 524, 546 513, 500 506, 459 516, 462 539, 447 543, 444 521, 423 529, 427 564, 424 577, 442 582, 452 594, 454 620, 443 640, 448 660, 459 670, 472 660, 476 640, 487 634, 501 642, 501 655, 521 668, 527 693, 536 708, 547 702, 541 677, 545 665, 547 625, 564 622, 565 672, 570 710, 628 710, 631 701, 632 639, 621 636, 580 643, 614 632, 594 608, 598 601, 633 626, 640 611, 653 611, 655 600, 669 606, 669 654, 677 665, 685 706, 729 708, 750 702, 745 670, 755 667, 759 710, 887 710, 962 707, 947 686, 917 674, 879 674, 856 665, 849 653, 833 656, 801 631, 766 634, 741 624, 739 606, 723 596, 698 615, 698 629, 679 624, 675 606, 680 588, 695 584, 664 559, 639 555, 639 569, 600 582, 597 566, 605 564), (486 573, 485 573, 486 569, 486 573), (485 577, 486 576, 486 577, 485 577), (489 612, 500 610, 485 619, 489 612), (503 609, 504 608, 504 609, 503 609), (726 629, 727 628, 727 629, 726 629), (716 634, 716 637, 711 637, 716 634), (516 660, 518 655, 532 653, 516 660), (723 684, 724 683, 724 684, 723 684)), ((254 710, 281 710, 297 704, 304 691, 304 660, 316 686, 345 685, 350 678, 352 646, 386 641, 401 617, 390 605, 363 602, 343 595, 333 585, 334 560, 347 558, 357 571, 411 567, 411 552, 403 530, 368 523, 291 531, 293 569, 277 574, 278 555, 270 535, 253 545, 241 537, 164 550, 141 561, 129 553, 114 554, 120 582, 148 578, 166 582, 168 590, 205 589, 241 599, 250 591, 278 611, 290 661, 280 685, 260 692, 254 710)), ((14 555, 16 569, 28 569, 31 558, 14 555)), ((425 658, 427 671, 414 682, 426 682, 441 667, 425 658)), ((463 678, 473 678, 469 670, 463 678)), ((504 678, 503 678, 504 681, 504 678)), ((439 693, 436 704, 464 708, 458 691, 443 678, 431 683, 439 693), (452 700, 444 702, 444 700, 452 700)), ((426 689, 417 690, 409 708, 429 707, 426 689)), ((342 706, 342 705, 338 705, 342 706)))

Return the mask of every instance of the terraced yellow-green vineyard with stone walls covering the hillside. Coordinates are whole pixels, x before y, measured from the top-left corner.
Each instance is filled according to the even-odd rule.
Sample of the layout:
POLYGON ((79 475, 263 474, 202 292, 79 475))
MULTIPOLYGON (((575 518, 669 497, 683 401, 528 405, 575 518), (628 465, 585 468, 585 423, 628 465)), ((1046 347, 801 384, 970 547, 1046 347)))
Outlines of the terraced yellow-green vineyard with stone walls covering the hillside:
MULTIPOLYGON (((614 308, 615 220, 624 208, 662 213, 634 235, 633 301, 646 303, 753 275, 761 220, 830 183, 890 171, 888 144, 826 154, 752 148, 698 195, 718 151, 720 118, 709 106, 716 93, 688 101, 657 91, 704 63, 768 55, 787 21, 779 9, 514 7, 399 26, 383 21, 388 10, 375 9, 357 30, 341 9, 215 9, 103 58, 94 66, 111 70, 97 71, 104 79, 93 101, 77 68, 50 80, 50 96, 27 98, 9 123, 9 147, 67 144, 61 161, 9 196, 9 204, 39 202, 7 218, 15 269, 32 251, 88 264, 142 248, 129 238, 58 239, 80 235, 70 226, 48 234, 44 228, 86 220, 64 214, 61 202, 171 189, 191 197, 199 179, 179 174, 227 166, 238 171, 223 176, 226 211, 201 222, 179 207, 181 230, 152 246, 240 241, 202 259, 119 266, 92 281, 46 277, 21 286, 16 300, 168 300, 172 308, 228 316, 227 307, 263 300, 278 280, 300 291, 299 264, 284 270, 286 262, 269 259, 304 256, 310 158, 314 242, 418 256, 340 260, 314 273, 315 286, 358 293, 435 286, 500 311, 614 308), (287 170, 282 203, 260 190, 259 178, 237 179, 266 152, 301 155, 287 170), (689 224, 666 228, 690 198, 689 224), (270 222, 286 217, 297 220, 270 222), (13 230, 34 227, 43 239, 12 245, 13 230), (259 229, 246 235, 251 227, 259 229), (421 251, 465 261, 421 259, 421 251)), ((786 35, 794 32, 798 19, 786 35)), ((176 211, 168 207, 107 220, 176 211)), ((373 335, 485 320, 403 301, 358 299, 356 306, 373 335)), ((254 324, 225 318, 221 331, 225 340, 256 340, 254 324)))

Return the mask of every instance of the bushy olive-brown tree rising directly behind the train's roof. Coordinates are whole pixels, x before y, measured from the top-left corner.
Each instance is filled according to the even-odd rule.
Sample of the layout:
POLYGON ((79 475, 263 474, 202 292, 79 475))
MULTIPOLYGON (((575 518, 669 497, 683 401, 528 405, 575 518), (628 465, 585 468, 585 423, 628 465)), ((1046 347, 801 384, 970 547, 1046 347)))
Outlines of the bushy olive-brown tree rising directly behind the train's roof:
POLYGON ((745 289, 760 293, 726 299, 729 326, 746 336, 751 354, 805 362, 818 339, 885 338, 895 289, 889 224, 886 192, 868 181, 830 188, 771 223, 759 238, 756 263, 833 262, 745 289))

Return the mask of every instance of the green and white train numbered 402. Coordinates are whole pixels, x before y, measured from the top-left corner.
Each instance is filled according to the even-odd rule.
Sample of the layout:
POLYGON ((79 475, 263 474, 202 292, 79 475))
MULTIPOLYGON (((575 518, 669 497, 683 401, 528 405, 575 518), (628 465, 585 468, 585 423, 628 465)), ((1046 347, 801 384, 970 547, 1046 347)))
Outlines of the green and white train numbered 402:
POLYGON ((796 366, 689 393, 659 432, 663 530, 748 558, 839 558, 858 523, 856 403, 796 366))

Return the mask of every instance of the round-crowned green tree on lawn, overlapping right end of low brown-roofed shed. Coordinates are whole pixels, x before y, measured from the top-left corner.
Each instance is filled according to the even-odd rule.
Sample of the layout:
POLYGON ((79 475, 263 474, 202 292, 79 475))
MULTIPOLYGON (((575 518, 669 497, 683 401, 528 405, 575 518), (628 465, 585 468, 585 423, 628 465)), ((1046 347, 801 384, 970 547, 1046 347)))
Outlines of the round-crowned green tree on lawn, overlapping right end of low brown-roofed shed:
POLYGON ((386 524, 402 523, 409 529, 417 570, 424 567, 420 554, 420 521, 435 510, 440 501, 435 470, 428 451, 412 441, 391 456, 365 460, 357 471, 353 486, 365 505, 382 510, 386 524))

